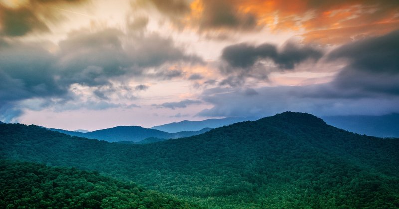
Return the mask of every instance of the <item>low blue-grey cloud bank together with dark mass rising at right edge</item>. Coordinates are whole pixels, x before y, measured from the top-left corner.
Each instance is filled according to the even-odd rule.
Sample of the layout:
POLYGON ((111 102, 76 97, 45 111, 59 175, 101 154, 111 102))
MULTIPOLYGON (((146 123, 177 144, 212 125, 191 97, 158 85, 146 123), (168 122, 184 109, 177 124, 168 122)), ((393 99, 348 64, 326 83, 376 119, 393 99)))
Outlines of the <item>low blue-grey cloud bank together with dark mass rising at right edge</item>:
MULTIPOLYGON (((399 112, 399 32, 338 47, 330 62, 347 65, 329 83, 250 89, 214 88, 202 100, 212 104, 199 116, 268 116, 283 111, 323 115, 381 115, 399 112)), ((246 63, 246 62, 245 62, 246 63)), ((252 62, 249 62, 252 63, 252 62)))

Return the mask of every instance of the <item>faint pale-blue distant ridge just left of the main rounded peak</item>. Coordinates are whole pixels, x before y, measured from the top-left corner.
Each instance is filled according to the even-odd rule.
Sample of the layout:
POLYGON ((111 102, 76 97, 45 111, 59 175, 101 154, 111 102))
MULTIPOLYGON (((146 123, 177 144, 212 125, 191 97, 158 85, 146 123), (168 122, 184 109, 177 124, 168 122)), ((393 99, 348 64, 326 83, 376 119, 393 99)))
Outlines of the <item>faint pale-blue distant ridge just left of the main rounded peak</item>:
POLYGON ((252 121, 257 120, 259 118, 254 117, 230 117, 230 118, 222 118, 222 119, 207 119, 203 121, 180 121, 175 123, 168 123, 160 126, 154 126, 152 129, 157 129, 160 131, 165 131, 169 133, 179 132, 179 131, 198 131, 203 128, 218 128, 226 125, 230 125, 233 123, 238 123, 242 121, 252 121))

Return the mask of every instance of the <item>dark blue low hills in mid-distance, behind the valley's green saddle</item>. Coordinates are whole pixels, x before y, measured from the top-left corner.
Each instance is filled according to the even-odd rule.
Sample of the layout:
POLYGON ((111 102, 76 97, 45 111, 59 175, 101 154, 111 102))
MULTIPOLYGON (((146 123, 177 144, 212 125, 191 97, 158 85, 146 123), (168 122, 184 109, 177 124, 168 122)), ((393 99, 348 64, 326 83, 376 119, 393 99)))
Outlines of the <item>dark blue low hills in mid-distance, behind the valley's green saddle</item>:
POLYGON ((118 141, 139 142, 150 137, 155 137, 159 139, 174 139, 181 137, 189 137, 205 133, 211 130, 211 128, 204 128, 200 131, 181 131, 177 133, 167 133, 164 131, 143 128, 140 126, 117 126, 113 128, 101 129, 87 133, 82 133, 77 131, 67 131, 63 129, 54 129, 54 128, 50 128, 49 130, 57 131, 71 136, 85 137, 88 139, 98 139, 108 142, 118 142, 118 141))

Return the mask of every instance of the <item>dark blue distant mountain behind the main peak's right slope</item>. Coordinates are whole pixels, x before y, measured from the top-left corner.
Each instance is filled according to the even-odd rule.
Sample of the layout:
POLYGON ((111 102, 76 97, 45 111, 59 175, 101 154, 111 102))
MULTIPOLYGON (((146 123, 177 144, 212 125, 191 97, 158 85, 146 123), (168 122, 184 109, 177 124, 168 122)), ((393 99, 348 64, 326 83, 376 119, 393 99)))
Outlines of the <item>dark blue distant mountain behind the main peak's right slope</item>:
POLYGON ((328 124, 358 134, 399 137, 399 113, 382 116, 326 116, 328 124))

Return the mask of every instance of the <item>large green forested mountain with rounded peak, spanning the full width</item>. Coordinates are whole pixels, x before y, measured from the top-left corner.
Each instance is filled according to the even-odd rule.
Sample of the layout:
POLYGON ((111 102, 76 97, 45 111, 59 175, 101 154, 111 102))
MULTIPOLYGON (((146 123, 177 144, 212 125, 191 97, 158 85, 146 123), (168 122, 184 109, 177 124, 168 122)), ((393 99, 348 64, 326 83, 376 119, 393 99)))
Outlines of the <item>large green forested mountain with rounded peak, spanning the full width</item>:
POLYGON ((75 166, 209 208, 398 208, 399 139, 285 112, 143 145, 0 125, 1 158, 75 166))

